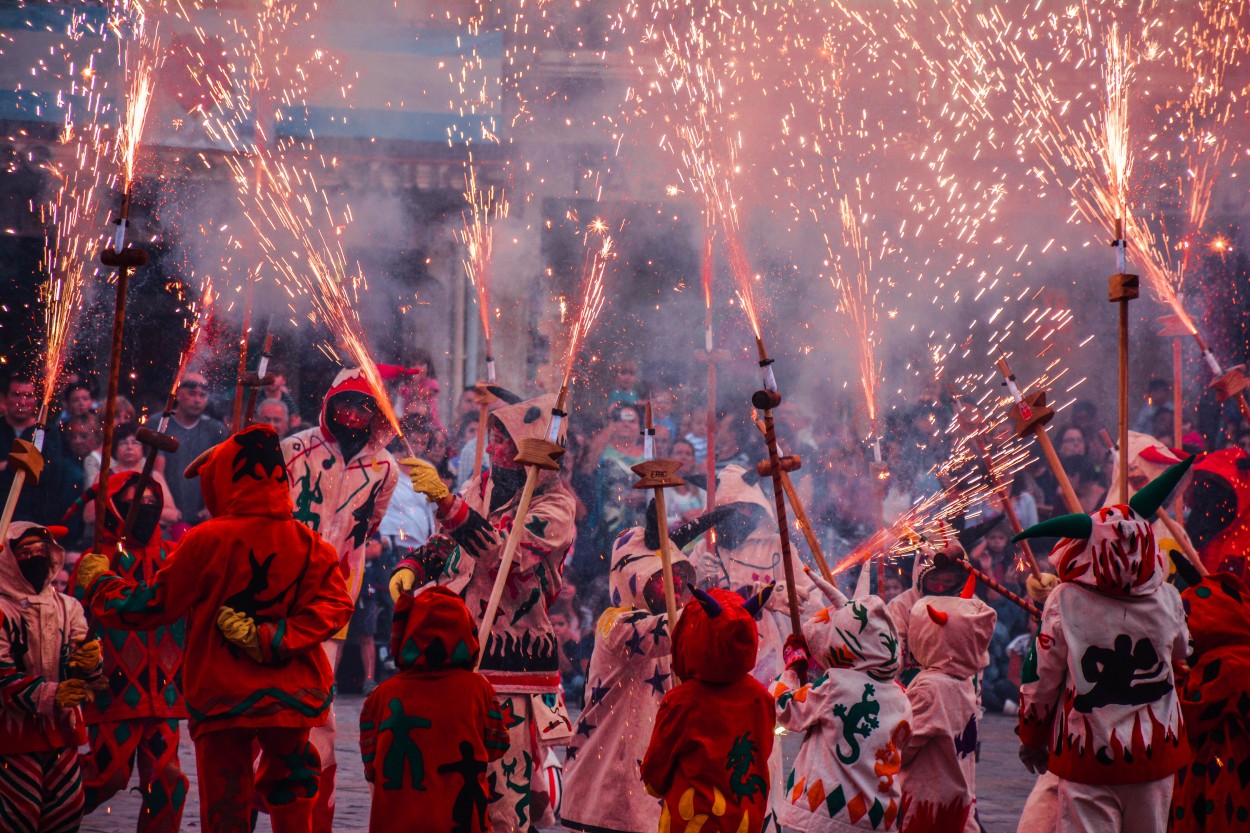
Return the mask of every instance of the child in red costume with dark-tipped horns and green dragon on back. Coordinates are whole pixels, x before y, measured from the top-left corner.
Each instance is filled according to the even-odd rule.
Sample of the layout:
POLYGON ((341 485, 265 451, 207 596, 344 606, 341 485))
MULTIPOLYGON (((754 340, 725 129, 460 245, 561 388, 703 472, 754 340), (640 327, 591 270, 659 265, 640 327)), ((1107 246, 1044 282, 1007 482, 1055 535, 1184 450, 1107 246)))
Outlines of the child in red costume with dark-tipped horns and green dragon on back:
POLYGON ((776 708, 754 677, 755 614, 771 587, 695 590, 672 632, 672 670, 642 757, 642 784, 662 798, 660 832, 760 833, 769 807, 776 708))

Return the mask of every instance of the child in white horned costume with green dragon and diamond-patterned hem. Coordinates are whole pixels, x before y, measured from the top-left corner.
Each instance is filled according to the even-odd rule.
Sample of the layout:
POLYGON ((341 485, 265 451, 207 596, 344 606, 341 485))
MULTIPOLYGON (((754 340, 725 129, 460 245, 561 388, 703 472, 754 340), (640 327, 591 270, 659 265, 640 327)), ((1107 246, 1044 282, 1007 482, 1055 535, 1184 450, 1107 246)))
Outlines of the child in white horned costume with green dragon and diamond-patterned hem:
POLYGON ((788 668, 770 688, 778 724, 805 733, 778 820, 804 833, 894 830, 901 804, 899 747, 911 720, 908 695, 894 682, 898 632, 879 597, 848 600, 824 579, 810 578, 830 603, 804 623, 810 660, 820 670, 804 684, 799 667, 808 657, 788 652, 788 668))

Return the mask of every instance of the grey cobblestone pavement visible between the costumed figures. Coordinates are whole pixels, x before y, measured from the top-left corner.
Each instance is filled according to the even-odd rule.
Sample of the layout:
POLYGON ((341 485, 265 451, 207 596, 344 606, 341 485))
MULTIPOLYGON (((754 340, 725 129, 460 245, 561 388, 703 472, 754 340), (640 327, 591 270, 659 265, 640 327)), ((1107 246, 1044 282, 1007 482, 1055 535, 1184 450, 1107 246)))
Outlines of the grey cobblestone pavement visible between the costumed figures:
MULTIPOLYGON (((339 719, 339 777, 336 785, 338 809, 335 833, 365 833, 369 829, 369 785, 360 767, 358 717, 362 697, 345 694, 336 703, 339 719)), ((976 768, 978 807, 980 819, 989 833, 1011 833, 1020 819, 1029 790, 1030 775, 1016 758, 1018 742, 1015 719, 988 714, 981 722, 981 758, 976 768)), ((786 760, 792 760, 799 748, 798 735, 785 740, 786 760)), ((184 830, 200 830, 200 802, 195 779, 195 754, 185 730, 179 749, 182 772, 191 782, 182 814, 184 830)), ((139 818, 138 777, 131 779, 131 790, 120 793, 82 822, 84 833, 131 833, 139 818)), ((551 828, 560 830, 562 828, 551 828)), ((269 820, 261 815, 258 833, 269 833, 269 820)))

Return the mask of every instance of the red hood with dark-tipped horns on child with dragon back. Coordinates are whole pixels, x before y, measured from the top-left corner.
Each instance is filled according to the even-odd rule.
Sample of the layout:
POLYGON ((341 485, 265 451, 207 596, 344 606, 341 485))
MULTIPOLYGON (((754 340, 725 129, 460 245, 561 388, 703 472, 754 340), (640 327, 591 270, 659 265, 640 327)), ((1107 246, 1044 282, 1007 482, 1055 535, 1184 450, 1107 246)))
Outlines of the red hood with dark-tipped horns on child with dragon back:
POLYGON ((698 599, 686 603, 672 632, 672 670, 681 679, 734 683, 755 668, 759 629, 742 597, 720 588, 708 594, 720 603, 720 615, 709 615, 698 599))

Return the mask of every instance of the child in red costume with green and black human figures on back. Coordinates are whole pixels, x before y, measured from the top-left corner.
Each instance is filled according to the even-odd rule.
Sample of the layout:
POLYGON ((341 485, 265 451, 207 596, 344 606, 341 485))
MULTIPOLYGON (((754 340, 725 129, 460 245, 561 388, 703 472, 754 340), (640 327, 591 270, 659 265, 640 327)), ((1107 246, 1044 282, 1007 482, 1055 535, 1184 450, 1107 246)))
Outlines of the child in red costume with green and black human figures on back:
POLYGON ((495 689, 474 673, 469 608, 431 587, 395 603, 391 653, 400 672, 360 710, 360 757, 375 833, 489 830, 486 764, 508 750, 495 689))

